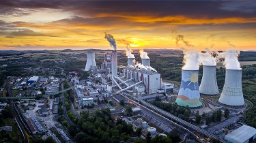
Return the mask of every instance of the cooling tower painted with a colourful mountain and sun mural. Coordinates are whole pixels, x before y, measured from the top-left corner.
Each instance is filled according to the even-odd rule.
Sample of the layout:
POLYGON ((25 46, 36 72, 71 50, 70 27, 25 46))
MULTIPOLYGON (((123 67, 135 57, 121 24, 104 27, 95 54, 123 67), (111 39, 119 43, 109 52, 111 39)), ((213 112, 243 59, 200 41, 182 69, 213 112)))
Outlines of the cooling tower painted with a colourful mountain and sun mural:
POLYGON ((198 70, 182 69, 182 83, 176 101, 179 106, 197 108, 202 105, 198 87, 198 70))

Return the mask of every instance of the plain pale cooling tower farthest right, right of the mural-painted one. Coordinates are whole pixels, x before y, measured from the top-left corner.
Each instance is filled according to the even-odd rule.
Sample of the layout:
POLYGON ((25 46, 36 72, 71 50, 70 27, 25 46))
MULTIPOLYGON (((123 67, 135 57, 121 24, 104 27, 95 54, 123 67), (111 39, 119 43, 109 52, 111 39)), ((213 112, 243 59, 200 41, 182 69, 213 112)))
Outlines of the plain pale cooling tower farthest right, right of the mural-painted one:
POLYGON ((241 69, 226 69, 225 84, 218 101, 227 106, 244 106, 241 69))

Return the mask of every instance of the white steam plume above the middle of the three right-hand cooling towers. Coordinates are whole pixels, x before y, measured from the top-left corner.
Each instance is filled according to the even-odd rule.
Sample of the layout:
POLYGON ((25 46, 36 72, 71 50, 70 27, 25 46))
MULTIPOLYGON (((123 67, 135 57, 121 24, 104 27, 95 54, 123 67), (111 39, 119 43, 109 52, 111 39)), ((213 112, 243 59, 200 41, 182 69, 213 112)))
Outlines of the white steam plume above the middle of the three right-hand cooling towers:
POLYGON ((216 58, 212 56, 208 48, 205 48, 205 50, 205 53, 200 54, 200 63, 203 65, 216 65, 216 58))

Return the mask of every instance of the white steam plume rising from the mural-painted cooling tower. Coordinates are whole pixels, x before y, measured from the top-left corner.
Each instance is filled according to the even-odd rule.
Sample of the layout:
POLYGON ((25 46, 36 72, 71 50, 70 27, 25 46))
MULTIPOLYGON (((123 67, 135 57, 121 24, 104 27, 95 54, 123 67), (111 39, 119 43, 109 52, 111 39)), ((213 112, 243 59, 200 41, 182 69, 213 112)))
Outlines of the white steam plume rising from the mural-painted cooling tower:
POLYGON ((182 67, 182 69, 198 70, 199 63, 200 63, 199 52, 197 52, 197 50, 185 49, 185 48, 182 48, 182 51, 184 53, 184 59, 183 59, 184 66, 182 67))

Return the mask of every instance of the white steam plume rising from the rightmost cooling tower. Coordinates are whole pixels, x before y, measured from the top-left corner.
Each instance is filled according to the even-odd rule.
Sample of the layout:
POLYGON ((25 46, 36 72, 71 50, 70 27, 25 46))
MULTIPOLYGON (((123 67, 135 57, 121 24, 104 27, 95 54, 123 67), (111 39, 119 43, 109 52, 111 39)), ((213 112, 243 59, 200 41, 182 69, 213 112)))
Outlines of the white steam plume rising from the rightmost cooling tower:
POLYGON ((226 69, 242 69, 238 61, 238 56, 240 54, 239 50, 227 50, 226 52, 220 53, 221 57, 225 58, 224 65, 226 69))

